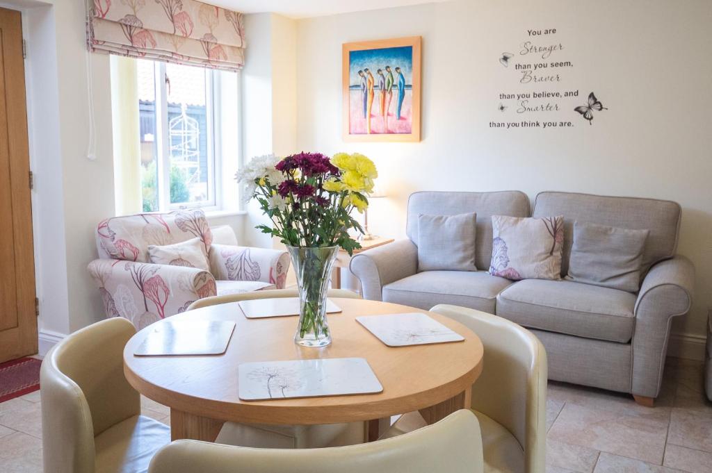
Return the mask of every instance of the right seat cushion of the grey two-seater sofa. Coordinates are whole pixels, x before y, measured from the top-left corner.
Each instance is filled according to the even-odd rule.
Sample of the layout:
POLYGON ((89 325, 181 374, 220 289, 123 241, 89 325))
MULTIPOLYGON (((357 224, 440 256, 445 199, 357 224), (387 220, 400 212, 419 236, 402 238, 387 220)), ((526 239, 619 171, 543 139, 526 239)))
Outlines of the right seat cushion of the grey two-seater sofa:
POLYGON ((524 280, 497 297, 497 315, 530 329, 627 343, 636 296, 572 281, 524 280))

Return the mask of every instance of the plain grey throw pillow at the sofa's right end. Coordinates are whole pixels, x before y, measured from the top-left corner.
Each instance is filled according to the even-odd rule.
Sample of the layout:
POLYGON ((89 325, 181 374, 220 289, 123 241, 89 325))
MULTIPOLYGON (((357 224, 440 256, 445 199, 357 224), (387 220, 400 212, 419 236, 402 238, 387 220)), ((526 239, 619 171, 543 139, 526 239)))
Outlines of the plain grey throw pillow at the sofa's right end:
POLYGON ((640 268, 650 230, 574 223, 566 279, 627 292, 640 289, 640 268))

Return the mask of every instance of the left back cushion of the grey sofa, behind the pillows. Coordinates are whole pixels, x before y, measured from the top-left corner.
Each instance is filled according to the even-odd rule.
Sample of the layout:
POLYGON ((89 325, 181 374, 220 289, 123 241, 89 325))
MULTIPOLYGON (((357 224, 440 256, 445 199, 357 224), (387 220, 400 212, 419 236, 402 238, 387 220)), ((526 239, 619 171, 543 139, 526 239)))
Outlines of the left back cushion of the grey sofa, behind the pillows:
POLYGON ((492 259, 492 216, 529 216, 529 198, 520 191, 500 192, 416 192, 408 199, 406 233, 418 244, 418 216, 477 213, 475 264, 487 270, 492 259))

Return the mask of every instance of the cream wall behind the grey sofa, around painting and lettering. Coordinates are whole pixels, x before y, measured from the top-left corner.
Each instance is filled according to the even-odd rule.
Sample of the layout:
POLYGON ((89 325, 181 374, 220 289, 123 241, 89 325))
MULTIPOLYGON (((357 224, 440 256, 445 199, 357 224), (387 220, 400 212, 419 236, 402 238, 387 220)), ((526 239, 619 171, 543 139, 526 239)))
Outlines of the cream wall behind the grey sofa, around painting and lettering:
POLYGON ((696 265, 697 294, 674 330, 698 337, 712 306, 710 24, 705 0, 453 1, 300 20, 295 150, 372 157, 389 198, 373 203, 371 228, 396 237, 404 235, 407 196, 419 190, 678 201, 679 253, 696 265), (566 74, 581 105, 595 90, 609 109, 594 124, 572 112, 579 122, 570 129, 488 127, 498 94, 525 88, 508 82, 512 71, 498 57, 525 41, 528 28, 557 28, 553 40, 573 51, 566 74), (400 36, 423 37, 422 142, 342 142, 341 44, 400 36))

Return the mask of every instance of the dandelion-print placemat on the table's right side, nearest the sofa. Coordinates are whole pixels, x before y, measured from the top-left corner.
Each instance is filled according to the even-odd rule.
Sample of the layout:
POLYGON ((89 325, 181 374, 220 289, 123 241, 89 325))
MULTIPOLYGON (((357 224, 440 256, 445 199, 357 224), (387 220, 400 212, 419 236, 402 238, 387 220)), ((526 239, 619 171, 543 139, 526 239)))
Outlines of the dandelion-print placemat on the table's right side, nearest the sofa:
POLYGON ((419 312, 356 317, 362 326, 387 346, 445 344, 465 338, 419 312))

